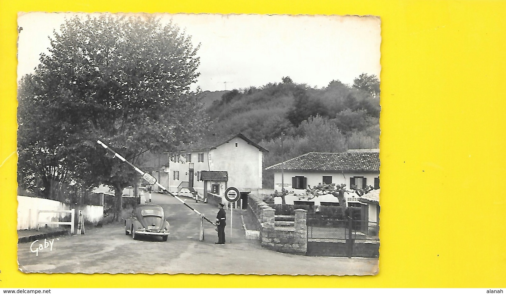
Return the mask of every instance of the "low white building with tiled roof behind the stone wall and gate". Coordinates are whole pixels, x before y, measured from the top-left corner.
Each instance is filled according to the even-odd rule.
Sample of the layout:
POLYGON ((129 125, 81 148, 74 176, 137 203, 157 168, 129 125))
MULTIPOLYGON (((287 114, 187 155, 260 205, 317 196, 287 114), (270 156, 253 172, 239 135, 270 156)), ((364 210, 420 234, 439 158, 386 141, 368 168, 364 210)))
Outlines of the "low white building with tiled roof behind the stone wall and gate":
MULTIPOLYGON (((274 189, 281 191, 282 183, 288 192, 304 194, 308 185, 346 184, 351 190, 352 185, 365 188, 369 185, 379 188, 379 153, 349 152, 320 153, 310 152, 285 161, 283 164, 267 167, 274 171, 274 189), (283 165, 283 167, 281 167, 283 165)), ((291 204, 297 197, 287 195, 286 203, 291 204)), ((275 199, 279 202, 279 198, 275 199)), ((338 202, 333 195, 322 195, 312 199, 314 205, 320 202, 338 202)), ((358 203, 358 195, 349 193, 347 202, 358 203)))

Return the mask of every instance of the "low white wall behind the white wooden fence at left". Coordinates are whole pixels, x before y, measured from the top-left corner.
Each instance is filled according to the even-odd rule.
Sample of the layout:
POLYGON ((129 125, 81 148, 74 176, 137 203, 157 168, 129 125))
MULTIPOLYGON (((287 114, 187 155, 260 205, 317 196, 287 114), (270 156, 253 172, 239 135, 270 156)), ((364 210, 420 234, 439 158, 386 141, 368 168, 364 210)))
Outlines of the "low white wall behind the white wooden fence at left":
MULTIPOLYGON (((18 230, 35 228, 37 221, 37 210, 71 210, 72 208, 59 201, 35 198, 18 195, 18 230)), ((85 221, 98 222, 103 218, 104 208, 102 206, 86 205, 75 211, 75 219, 78 217, 78 210, 82 210, 85 221)), ((40 213, 39 222, 59 221, 69 213, 40 213)), ((49 225, 58 226, 58 225, 49 225)))

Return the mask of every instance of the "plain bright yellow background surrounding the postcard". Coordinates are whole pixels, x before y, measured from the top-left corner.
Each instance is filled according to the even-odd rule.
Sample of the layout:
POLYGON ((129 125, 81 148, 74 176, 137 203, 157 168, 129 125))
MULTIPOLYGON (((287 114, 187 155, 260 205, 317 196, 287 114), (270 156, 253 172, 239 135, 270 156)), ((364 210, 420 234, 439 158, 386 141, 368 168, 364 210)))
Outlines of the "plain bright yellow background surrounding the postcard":
POLYGON ((506 1, 156 1, 145 5, 142 1, 0 0, 0 11, 0 164, 5 160, 0 166, 0 288, 506 286, 506 1), (20 11, 380 16, 379 274, 19 272, 15 150, 20 11))

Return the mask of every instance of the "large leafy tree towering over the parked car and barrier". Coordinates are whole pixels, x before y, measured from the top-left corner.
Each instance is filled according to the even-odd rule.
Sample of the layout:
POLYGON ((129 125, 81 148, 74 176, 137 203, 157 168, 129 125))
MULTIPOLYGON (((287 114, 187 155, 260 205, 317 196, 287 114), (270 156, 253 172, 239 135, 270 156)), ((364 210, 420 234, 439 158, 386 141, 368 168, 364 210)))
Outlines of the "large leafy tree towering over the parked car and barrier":
MULTIPOLYGON (((74 181, 112 185, 117 217, 122 189, 139 175, 105 156, 97 139, 135 163, 148 150, 170 151, 199 137, 205 115, 190 89, 199 75, 197 49, 177 25, 154 17, 68 19, 20 85, 20 136, 26 137, 19 149, 29 154, 36 142, 46 153, 39 156, 57 154, 55 166, 71 170, 74 181)), ((45 165, 30 168, 43 174, 45 165)))

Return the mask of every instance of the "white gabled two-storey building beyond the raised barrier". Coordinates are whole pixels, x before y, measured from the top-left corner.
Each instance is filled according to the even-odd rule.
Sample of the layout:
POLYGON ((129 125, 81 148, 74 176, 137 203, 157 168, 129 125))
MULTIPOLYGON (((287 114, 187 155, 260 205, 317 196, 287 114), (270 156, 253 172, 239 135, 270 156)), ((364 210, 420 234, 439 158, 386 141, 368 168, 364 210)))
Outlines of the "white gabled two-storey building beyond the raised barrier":
POLYGON ((164 165, 168 179, 161 184, 166 184, 171 192, 193 186, 203 195, 201 172, 216 171, 227 172, 228 181, 210 180, 207 191, 223 194, 227 185, 241 191, 258 190, 262 188, 264 152, 268 151, 240 133, 227 137, 205 137, 191 150, 168 154, 169 161, 164 165))

